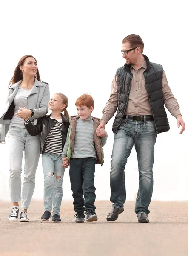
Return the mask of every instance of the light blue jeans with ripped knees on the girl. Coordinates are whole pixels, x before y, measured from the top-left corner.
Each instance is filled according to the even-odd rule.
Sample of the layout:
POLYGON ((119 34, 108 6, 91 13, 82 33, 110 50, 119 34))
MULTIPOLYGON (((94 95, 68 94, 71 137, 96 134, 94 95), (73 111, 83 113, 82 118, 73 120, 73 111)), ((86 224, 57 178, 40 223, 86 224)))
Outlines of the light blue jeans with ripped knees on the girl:
POLYGON ((62 158, 59 154, 44 153, 42 155, 44 173, 44 209, 52 210, 52 215, 60 215, 60 206, 63 197, 63 175, 65 168, 61 166, 62 158))

